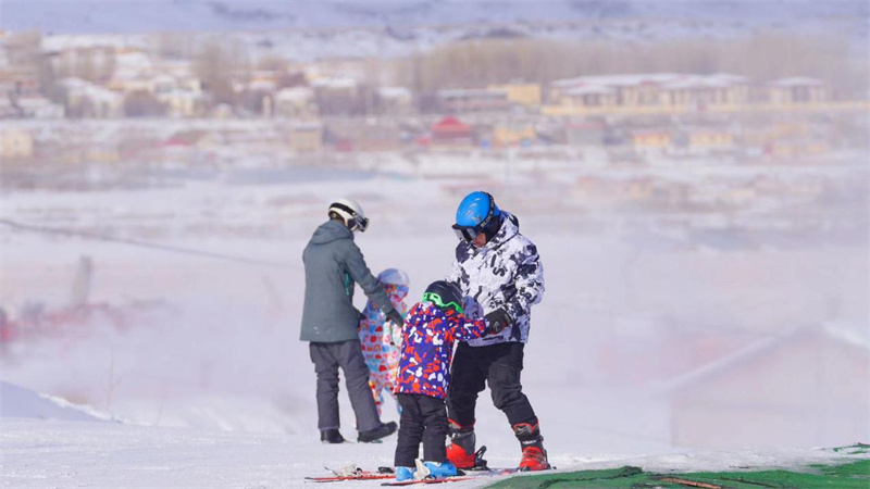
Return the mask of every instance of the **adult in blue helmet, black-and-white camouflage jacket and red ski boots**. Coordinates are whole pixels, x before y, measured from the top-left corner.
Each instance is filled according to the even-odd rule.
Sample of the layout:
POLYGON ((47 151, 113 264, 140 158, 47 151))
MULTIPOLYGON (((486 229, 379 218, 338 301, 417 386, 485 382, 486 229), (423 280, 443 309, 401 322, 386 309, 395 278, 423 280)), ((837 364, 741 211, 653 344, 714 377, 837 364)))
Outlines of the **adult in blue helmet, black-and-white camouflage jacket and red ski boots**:
POLYGON ((532 305, 544 294, 544 266, 537 248, 520 234, 519 220, 498 209, 493 196, 472 192, 459 204, 453 230, 460 237, 446 280, 462 289, 465 314, 497 317, 499 335, 460 342, 447 392, 451 444, 447 456, 460 468, 474 464, 474 411, 489 385, 522 448, 522 469, 549 468, 538 419, 522 391, 523 349, 532 305))

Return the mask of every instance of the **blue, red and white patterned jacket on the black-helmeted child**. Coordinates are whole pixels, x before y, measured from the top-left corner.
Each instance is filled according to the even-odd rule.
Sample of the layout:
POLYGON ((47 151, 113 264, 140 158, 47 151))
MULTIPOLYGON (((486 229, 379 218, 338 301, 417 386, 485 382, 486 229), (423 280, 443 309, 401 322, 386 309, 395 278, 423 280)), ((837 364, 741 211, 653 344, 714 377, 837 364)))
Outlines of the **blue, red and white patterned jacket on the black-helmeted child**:
POLYGON ((450 384, 453 341, 480 338, 484 319, 470 321, 462 313, 442 311, 432 302, 418 302, 405 318, 396 393, 444 399, 450 384))

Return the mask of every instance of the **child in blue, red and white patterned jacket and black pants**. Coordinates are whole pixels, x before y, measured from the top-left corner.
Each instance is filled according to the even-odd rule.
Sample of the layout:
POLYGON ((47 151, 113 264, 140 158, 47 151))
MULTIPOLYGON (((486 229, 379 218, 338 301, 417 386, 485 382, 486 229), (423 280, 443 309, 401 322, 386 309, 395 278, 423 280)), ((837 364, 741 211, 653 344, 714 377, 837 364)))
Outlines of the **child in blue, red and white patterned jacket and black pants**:
POLYGON ((402 327, 396 379, 396 397, 401 406, 396 480, 457 475, 456 466, 447 461, 445 448, 444 399, 450 383, 453 342, 500 333, 499 324, 488 317, 465 318, 461 290, 444 280, 432 283, 423 300, 411 308, 402 327), (423 462, 418 460, 421 441, 423 462))

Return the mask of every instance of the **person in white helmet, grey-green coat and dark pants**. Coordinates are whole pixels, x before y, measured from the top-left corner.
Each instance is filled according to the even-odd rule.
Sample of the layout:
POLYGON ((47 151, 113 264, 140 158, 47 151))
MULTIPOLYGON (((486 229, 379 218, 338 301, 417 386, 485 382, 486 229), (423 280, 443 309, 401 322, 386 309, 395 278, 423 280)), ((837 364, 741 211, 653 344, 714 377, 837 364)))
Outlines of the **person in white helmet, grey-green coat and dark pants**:
POLYGON ((360 312, 353 306, 355 283, 388 319, 399 326, 403 322, 353 242, 353 231, 362 233, 369 225, 362 208, 352 200, 340 199, 330 205, 328 216, 330 221, 318 227, 302 253, 306 296, 300 339, 310 342, 311 362, 318 375, 321 441, 345 441, 338 430, 340 367, 357 417, 358 441, 371 442, 395 432, 396 423, 381 422, 369 388, 369 368, 357 333, 360 312))

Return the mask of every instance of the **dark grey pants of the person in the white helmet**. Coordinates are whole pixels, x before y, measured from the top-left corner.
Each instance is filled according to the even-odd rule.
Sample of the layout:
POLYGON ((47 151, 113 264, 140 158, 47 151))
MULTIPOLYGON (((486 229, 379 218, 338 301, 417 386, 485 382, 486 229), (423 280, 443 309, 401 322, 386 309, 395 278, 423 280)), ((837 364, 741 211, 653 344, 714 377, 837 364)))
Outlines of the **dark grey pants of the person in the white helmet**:
POLYGON ((359 340, 319 343, 309 346, 311 362, 318 374, 318 428, 337 429, 338 417, 338 368, 345 373, 345 384, 350 396, 350 405, 357 416, 357 429, 366 431, 381 426, 377 406, 369 387, 369 367, 362 356, 359 340))

